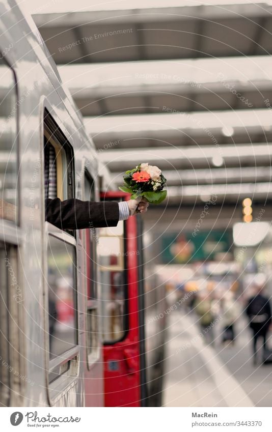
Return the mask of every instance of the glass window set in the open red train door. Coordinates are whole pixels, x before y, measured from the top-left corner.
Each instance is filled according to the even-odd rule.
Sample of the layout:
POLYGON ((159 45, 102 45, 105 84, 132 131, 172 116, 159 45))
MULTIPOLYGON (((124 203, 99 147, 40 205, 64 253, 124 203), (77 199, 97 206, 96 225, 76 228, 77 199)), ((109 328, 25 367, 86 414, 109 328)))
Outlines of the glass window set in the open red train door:
POLYGON ((103 340, 113 343, 127 330, 124 222, 102 228, 98 245, 101 270, 103 340))

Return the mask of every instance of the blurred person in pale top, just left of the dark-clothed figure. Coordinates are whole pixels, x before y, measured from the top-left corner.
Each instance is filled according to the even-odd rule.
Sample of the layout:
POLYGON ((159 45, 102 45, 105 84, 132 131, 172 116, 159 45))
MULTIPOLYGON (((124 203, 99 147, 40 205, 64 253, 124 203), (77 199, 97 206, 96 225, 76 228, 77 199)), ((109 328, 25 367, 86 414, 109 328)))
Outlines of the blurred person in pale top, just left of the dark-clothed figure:
POLYGON ((234 295, 227 291, 221 301, 221 312, 223 315, 222 343, 232 343, 235 340, 235 321, 237 320, 240 309, 234 295))

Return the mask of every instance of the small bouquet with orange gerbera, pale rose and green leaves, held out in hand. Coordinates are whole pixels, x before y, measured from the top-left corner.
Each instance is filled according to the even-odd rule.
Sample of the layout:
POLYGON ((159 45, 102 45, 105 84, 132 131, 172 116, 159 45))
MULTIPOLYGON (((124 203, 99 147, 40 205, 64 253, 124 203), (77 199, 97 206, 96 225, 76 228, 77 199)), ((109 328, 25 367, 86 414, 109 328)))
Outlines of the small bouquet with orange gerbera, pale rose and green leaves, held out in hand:
POLYGON ((163 190, 166 178, 157 166, 140 163, 137 167, 125 172, 124 185, 119 189, 131 193, 131 199, 144 196, 148 203, 159 204, 166 198, 167 191, 163 190))

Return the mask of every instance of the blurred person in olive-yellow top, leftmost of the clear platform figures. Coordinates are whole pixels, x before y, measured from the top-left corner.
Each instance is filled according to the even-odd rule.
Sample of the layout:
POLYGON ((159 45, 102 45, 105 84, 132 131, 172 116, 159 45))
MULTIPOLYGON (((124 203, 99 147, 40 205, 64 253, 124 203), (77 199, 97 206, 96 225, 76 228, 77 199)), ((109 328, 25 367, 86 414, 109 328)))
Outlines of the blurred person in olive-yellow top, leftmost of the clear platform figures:
POLYGON ((212 300, 209 294, 207 293, 199 294, 196 300, 195 311, 200 317, 199 322, 201 327, 201 333, 204 336, 204 339, 206 340, 207 343, 213 345, 214 315, 212 312, 212 300))

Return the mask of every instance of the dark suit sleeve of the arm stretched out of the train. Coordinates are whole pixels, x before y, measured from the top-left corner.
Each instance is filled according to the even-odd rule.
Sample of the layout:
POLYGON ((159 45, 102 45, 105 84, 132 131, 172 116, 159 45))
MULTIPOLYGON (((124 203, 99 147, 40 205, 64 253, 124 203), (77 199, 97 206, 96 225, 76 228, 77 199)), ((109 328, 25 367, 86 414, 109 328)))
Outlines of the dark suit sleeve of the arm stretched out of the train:
POLYGON ((60 229, 99 228, 116 226, 119 221, 118 203, 80 201, 71 198, 45 200, 45 220, 60 229))

